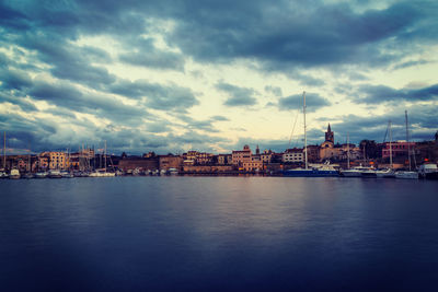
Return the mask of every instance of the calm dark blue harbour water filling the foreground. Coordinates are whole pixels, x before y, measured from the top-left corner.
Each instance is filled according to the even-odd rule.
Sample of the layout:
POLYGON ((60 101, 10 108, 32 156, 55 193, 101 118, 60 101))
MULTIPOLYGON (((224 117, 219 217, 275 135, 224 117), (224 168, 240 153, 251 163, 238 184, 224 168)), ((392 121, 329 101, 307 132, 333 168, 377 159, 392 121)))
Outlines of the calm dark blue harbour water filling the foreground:
POLYGON ((0 180, 1 291, 437 291, 438 183, 0 180))

